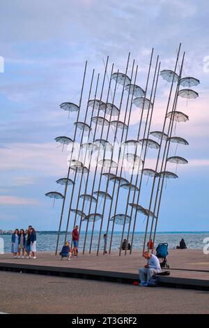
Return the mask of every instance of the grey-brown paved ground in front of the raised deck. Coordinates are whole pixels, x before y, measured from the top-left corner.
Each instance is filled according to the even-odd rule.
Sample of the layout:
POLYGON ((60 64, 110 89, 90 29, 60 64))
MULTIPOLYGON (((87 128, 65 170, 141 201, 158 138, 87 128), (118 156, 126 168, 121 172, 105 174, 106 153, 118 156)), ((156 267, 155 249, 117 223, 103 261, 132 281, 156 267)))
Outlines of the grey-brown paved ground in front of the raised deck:
POLYGON ((209 292, 199 290, 1 271, 0 290, 7 313, 209 313, 209 292))

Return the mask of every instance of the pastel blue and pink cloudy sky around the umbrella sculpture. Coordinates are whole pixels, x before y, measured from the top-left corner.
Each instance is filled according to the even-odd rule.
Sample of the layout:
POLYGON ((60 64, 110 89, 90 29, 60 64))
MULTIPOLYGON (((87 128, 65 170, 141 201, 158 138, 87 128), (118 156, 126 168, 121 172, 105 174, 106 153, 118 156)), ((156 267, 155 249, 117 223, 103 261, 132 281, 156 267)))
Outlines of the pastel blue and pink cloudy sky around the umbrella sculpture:
MULTIPOLYGON (((162 69, 173 69, 181 42, 183 75, 201 84, 195 88, 199 98, 187 105, 180 100, 179 110, 189 115, 178 126, 189 142, 180 156, 189 164, 167 184, 158 230, 209 230, 208 17, 207 0, 1 0, 0 229, 58 228, 61 202, 52 208, 45 193, 66 175, 67 154, 54 138, 72 137, 75 119, 59 104, 78 102, 85 61, 89 80, 93 68, 102 75, 107 55, 115 70, 124 71, 131 52, 139 64, 138 84, 145 87, 151 48, 162 69)), ((151 130, 162 128, 168 92, 161 79, 151 130)), ((143 229, 143 221, 137 223, 143 229)))

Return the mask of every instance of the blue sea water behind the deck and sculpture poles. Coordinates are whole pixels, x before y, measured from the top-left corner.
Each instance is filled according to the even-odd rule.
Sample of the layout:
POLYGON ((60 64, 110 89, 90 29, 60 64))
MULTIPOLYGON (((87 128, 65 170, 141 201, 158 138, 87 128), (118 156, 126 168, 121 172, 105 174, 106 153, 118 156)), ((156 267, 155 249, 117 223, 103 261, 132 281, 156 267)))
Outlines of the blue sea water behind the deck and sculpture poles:
MULTIPOLYGON (((98 248, 98 234, 93 235, 92 241, 92 251, 97 250, 98 248)), ((103 236, 103 234, 102 234, 103 236)), ((0 236, 3 238, 4 242, 4 252, 10 252, 11 249, 11 236, 2 234, 0 236)), ((124 236, 125 237, 125 236, 124 236)), ((179 244, 180 239, 185 239, 185 243, 187 248, 190 249, 202 249, 205 245, 203 243, 203 239, 209 237, 209 232, 159 232, 156 234, 155 238, 155 245, 159 243, 167 242, 169 244, 169 248, 176 248, 176 245, 179 244)), ((56 232, 37 232, 37 251, 54 251, 56 248, 56 232)), ((65 238, 65 234, 61 233, 60 242, 59 242, 59 249, 63 246, 63 241, 65 238)), ((68 240, 71 241, 71 236, 68 234, 68 240)), ((108 237, 108 246, 110 240, 110 234, 108 237)), ((131 240, 131 236, 129 238, 131 240)), ((86 239, 86 250, 88 251, 89 245, 91 242, 91 234, 87 235, 86 239)), ((134 246, 133 249, 142 248, 144 242, 144 234, 143 232, 136 232, 134 234, 134 246)), ((114 237, 112 239, 112 250, 117 250, 121 244, 121 233, 115 232, 114 237)), ((84 245, 84 234, 80 234, 79 239, 79 249, 82 249, 84 245)), ((104 241, 101 238, 100 241, 100 249, 102 250, 104 246, 104 241)))

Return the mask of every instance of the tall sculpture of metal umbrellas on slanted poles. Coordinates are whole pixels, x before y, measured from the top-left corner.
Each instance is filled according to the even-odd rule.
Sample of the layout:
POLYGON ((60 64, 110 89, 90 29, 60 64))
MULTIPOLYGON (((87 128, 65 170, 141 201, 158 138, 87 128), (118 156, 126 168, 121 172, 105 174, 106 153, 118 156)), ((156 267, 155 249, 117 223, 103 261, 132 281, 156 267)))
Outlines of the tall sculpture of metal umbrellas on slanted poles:
MULTIPOLYGON (((109 233, 110 222, 112 223, 112 232, 114 231, 114 224, 123 225, 123 231, 125 232, 124 227, 128 223, 129 227, 127 230, 127 239, 128 234, 131 233, 133 246, 134 229, 136 228, 135 222, 138 213, 143 214, 147 218, 147 226, 144 238, 146 239, 147 233, 149 231, 149 217, 151 217, 152 220, 155 220, 154 230, 156 231, 160 211, 161 195, 162 190, 164 189, 163 181, 164 179, 166 179, 165 183, 167 184, 167 179, 178 178, 178 175, 176 173, 170 172, 167 169, 167 165, 168 163, 173 163, 176 164, 177 167, 178 164, 185 165, 188 163, 188 161, 184 157, 176 156, 176 153, 174 154, 174 156, 171 156, 173 154, 170 154, 169 152, 170 144, 176 144, 176 150, 179 145, 187 146, 189 144, 184 138, 184 136, 182 137, 176 135, 177 122, 186 122, 189 120, 187 114, 180 112, 179 108, 177 107, 177 104, 179 103, 178 98, 182 97, 188 100, 191 98, 195 99, 199 96, 199 93, 191 88, 199 86, 200 81, 195 77, 182 77, 185 54, 183 54, 180 64, 180 49, 181 45, 178 49, 176 64, 175 67, 173 67, 173 70, 160 70, 160 65, 157 66, 157 64, 154 70, 153 56, 155 52, 153 52, 152 50, 150 56, 150 64, 148 66, 146 87, 144 89, 139 87, 139 85, 137 84, 137 69, 135 67, 134 61, 132 66, 132 73, 136 71, 134 79, 133 74, 131 74, 130 77, 127 75, 127 72, 130 72, 129 54, 127 59, 127 66, 124 70, 125 73, 120 73, 119 71, 113 73, 114 65, 112 65, 111 73, 109 74, 110 68, 107 59, 107 64, 104 70, 104 78, 102 82, 98 83, 98 75, 95 95, 91 98, 93 89, 91 89, 91 87, 89 90, 85 89, 87 85, 85 79, 88 77, 88 74, 86 74, 87 66, 85 66, 84 78, 81 88, 82 93, 79 100, 79 105, 71 103, 70 101, 61 103, 60 105, 61 110, 68 112, 69 114, 70 112, 77 112, 77 119, 75 120, 72 131, 72 133, 74 133, 74 136, 67 137, 61 135, 55 138, 56 142, 59 142, 63 147, 65 145, 73 145, 75 142, 77 142, 79 144, 79 152, 78 154, 76 154, 77 149, 74 149, 74 146, 72 146, 73 151, 71 151, 71 153, 73 154, 71 154, 71 157, 68 157, 70 158, 70 160, 68 160, 68 174, 66 174, 64 178, 56 180, 56 184, 64 186, 65 194, 62 195, 57 191, 51 191, 45 194, 47 197, 52 198, 54 201, 56 199, 63 199, 59 231, 61 231, 60 229, 62 218, 63 216, 65 216, 66 213, 65 207, 68 207, 69 200, 68 197, 66 197, 68 186, 72 186, 73 188, 73 198, 70 197, 70 207, 68 207, 69 226, 72 226, 72 220, 70 215, 72 213, 75 214, 75 221, 79 220, 80 225, 82 221, 84 221, 86 222, 87 227, 88 223, 92 222, 93 226, 91 228, 91 243, 92 240, 94 240, 95 242, 95 239, 92 239, 94 232, 94 224, 96 221, 100 221, 100 234, 101 231, 106 231, 107 233, 109 233), (180 67, 178 67, 178 64, 180 67), (158 68, 158 72, 155 77, 153 72, 156 71, 156 68, 158 68), (155 91, 157 90, 157 79, 159 75, 162 77, 162 80, 167 82, 166 85, 167 88, 169 88, 169 91, 161 93, 162 96, 169 95, 167 98, 167 105, 164 107, 165 111, 164 117, 162 117, 162 130, 158 128, 159 122, 157 121, 156 123, 152 119, 152 111, 155 105, 155 92, 153 91, 154 89, 155 91), (110 80, 109 76, 111 76, 110 80), (121 87, 118 88, 120 85, 121 87), (113 86, 114 94, 112 94, 111 92, 111 88, 113 86), (152 89, 150 88, 150 86, 152 86, 152 89), (85 96, 83 96, 83 92, 85 96), (109 95, 111 96, 111 102, 109 100, 109 95), (136 117, 136 110, 132 112, 132 105, 139 108, 139 117, 136 117), (85 107, 86 110, 84 110, 85 107), (144 110, 146 113, 148 113, 146 117, 146 122, 144 121, 143 117, 144 110), (134 122, 138 122, 139 119, 141 120, 140 122, 143 122, 143 124, 139 124, 140 128, 137 133, 136 127, 134 126, 134 122), (153 126, 155 124, 156 130, 150 132, 150 126, 153 126), (77 130, 79 130, 80 135, 82 133, 82 137, 78 135, 79 133, 76 132, 77 130), (111 131, 111 133, 109 133, 109 131, 111 131), (118 136, 120 136, 121 141, 117 143, 116 141, 118 141, 118 136), (151 137, 153 137, 153 139, 156 138, 157 142, 151 139, 151 137), (156 165, 153 168, 148 168, 148 166, 146 166, 146 151, 148 151, 147 149, 150 148, 156 149, 155 153, 153 152, 151 156, 151 163, 156 161, 156 165), (116 149, 118 149, 117 152, 116 149), (144 151, 144 149, 146 150, 144 151), (88 151, 89 153, 87 153, 88 151), (94 151, 98 151, 97 159, 90 157, 92 156, 94 151), (140 156, 138 154, 138 151, 140 156), (85 159, 83 159, 84 154, 85 159), (86 167, 86 154, 88 154, 88 158, 90 157, 88 167, 86 167), (111 154, 111 156, 109 156, 109 154, 111 154), (125 170, 125 164, 127 165, 127 162, 131 163, 131 165, 137 165, 138 170, 136 174, 136 179, 133 179, 134 174, 131 174, 130 170, 125 170), (98 165, 102 166, 101 170, 99 170, 98 165), (159 167, 159 165, 161 166, 161 168, 159 167), (105 168, 108 169, 107 172, 104 172, 105 168), (75 185, 76 174, 77 179, 79 179, 80 181, 79 188, 77 188, 77 184, 75 185), (85 179, 85 174, 88 174, 89 179, 85 179), (102 177, 105 177, 105 179, 102 179, 102 177), (138 179, 139 177, 140 179, 138 179), (143 183, 143 179, 150 178, 152 178, 150 181, 150 184, 152 184, 151 188, 150 186, 145 186, 145 184, 143 183), (82 184, 82 181, 84 181, 84 184, 82 184), (155 186, 155 181, 157 181, 157 187, 155 186), (113 182, 114 184, 109 184, 109 182, 113 182), (158 193, 160 193, 160 197, 158 193), (99 202, 102 202, 102 200, 102 214, 99 214, 97 211, 97 207, 99 205, 99 202), (140 205, 141 202, 147 201, 148 205, 146 207, 142 207, 140 205), (82 202, 82 209, 78 209, 79 202, 82 202), (154 202, 155 204, 154 207, 152 202, 154 202), (88 215, 86 215, 84 213, 84 207, 88 204, 88 215), (121 214, 117 213, 117 204, 120 204, 121 214), (132 222, 133 210, 134 220, 132 222), (130 227, 133 227, 132 232, 130 230, 130 227)), ((158 64, 159 63, 160 61, 158 62, 158 64)), ((94 84, 93 77, 91 82, 93 82, 94 84)), ((161 113, 162 111, 159 112, 159 115, 161 113)), ((137 221, 136 224, 139 225, 139 223, 140 222, 137 221)), ((139 228, 140 230, 140 225, 137 226, 137 228, 139 228)), ((152 234, 152 229, 153 223, 150 228, 150 234, 152 234)), ((65 236, 67 233, 68 225, 65 231, 65 236)), ((114 237, 113 233, 111 233, 111 241, 112 237, 114 237)), ((111 251, 111 241, 109 252, 111 251)), ((98 240, 98 249, 100 249, 99 246, 100 240, 98 240)), ((89 252, 91 252, 91 244, 89 252)))

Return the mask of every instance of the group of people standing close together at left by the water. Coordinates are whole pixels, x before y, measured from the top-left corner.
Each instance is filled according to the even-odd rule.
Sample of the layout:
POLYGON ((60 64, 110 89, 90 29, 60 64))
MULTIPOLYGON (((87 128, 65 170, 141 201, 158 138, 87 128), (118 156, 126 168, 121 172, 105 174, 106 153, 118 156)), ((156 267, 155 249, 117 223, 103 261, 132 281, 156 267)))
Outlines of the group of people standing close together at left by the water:
POLYGON ((36 259, 36 231, 29 225, 29 228, 24 231, 24 229, 15 229, 12 234, 12 249, 14 258, 24 258, 26 253, 26 258, 36 259), (22 255, 21 255, 22 253, 22 255))

